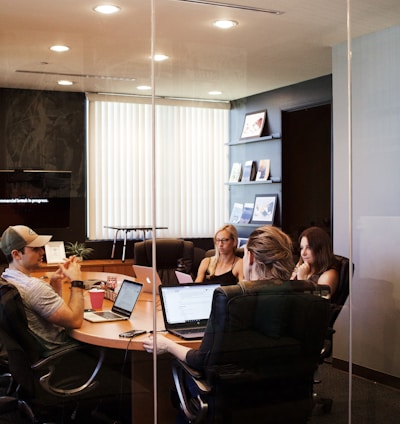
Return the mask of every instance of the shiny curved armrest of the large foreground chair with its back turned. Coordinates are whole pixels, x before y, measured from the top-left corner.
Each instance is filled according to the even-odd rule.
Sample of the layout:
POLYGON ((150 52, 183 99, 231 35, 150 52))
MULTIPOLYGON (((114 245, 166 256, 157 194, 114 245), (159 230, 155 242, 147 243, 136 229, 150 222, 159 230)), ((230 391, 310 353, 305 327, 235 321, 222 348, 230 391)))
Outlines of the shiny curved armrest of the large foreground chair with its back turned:
POLYGON ((210 386, 201 373, 178 359, 172 363, 172 375, 180 407, 186 418, 191 423, 203 422, 208 413, 208 403, 201 396, 211 393, 210 386), (192 383, 193 387, 189 387, 192 383))

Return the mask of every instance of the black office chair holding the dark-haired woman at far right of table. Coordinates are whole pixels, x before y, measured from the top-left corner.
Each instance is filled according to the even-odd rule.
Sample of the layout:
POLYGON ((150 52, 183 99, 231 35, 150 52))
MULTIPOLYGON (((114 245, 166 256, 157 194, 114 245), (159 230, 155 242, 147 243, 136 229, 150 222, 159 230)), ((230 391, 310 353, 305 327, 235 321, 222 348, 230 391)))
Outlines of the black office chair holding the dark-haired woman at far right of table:
MULTIPOLYGON (((330 312, 329 312, 329 326, 324 341, 324 346, 321 350, 320 364, 328 363, 328 359, 332 356, 333 351, 333 335, 335 334, 335 321, 342 310, 347 297, 349 296, 349 283, 350 283, 350 261, 348 258, 340 255, 335 255, 339 273, 339 283, 336 292, 330 299, 330 312)), ((352 266, 352 273, 354 273, 354 264, 352 266)), ((314 376, 314 383, 319 384, 321 380, 318 376, 318 370, 314 376)), ((329 413, 332 410, 333 399, 321 398, 317 393, 314 393, 314 403, 323 413, 329 413)))

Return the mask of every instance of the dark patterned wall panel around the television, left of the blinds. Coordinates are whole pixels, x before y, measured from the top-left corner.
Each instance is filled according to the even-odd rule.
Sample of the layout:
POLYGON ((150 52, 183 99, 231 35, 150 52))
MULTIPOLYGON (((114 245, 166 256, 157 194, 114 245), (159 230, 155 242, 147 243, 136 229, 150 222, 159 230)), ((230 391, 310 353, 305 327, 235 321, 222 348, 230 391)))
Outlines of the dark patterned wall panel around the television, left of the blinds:
POLYGON ((41 229, 54 239, 85 238, 85 151, 84 93, 0 89, 0 169, 72 172, 70 226, 41 229))

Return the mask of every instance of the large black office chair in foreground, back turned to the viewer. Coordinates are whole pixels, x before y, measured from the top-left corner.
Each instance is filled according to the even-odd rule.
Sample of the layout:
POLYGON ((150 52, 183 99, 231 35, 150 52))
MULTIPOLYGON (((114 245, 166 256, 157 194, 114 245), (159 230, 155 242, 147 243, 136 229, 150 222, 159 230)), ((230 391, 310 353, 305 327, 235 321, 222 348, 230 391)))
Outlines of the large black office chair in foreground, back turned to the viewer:
POLYGON ((300 285, 249 281, 214 291, 202 369, 172 364, 187 422, 307 422, 329 301, 300 285))

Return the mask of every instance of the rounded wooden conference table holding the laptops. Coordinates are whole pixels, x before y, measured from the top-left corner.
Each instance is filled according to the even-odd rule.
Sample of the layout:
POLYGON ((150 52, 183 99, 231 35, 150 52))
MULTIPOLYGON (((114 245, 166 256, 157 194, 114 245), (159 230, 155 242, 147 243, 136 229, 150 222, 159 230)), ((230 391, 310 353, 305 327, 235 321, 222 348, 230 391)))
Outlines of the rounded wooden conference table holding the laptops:
MULTIPOLYGON (((46 273, 49 278, 51 273, 46 273)), ((107 277, 115 277, 120 285, 124 279, 134 280, 133 277, 116 273, 83 272, 84 281, 107 281, 107 277)), ((69 298, 69 284, 63 285, 63 297, 69 298)), ((85 308, 91 308, 89 292, 84 293, 85 308)), ((158 295, 156 302, 156 331, 166 334, 162 317, 161 304, 158 295)), ((111 310, 113 302, 104 300, 103 310, 111 310)), ((119 334, 131 329, 154 331, 153 325, 154 299, 151 292, 143 292, 135 305, 129 320, 103 323, 91 323, 84 320, 79 329, 70 330, 69 334, 76 340, 95 346, 111 349, 123 349, 130 352, 131 359, 131 390, 132 390, 132 422, 147 424, 154 422, 154 361, 153 355, 143 349, 143 340, 149 333, 141 336, 124 339, 119 334)), ((179 337, 167 334, 167 337, 189 347, 198 347, 199 341, 185 341, 179 337)), ((158 423, 173 423, 177 410, 171 404, 171 389, 173 379, 171 372, 171 356, 157 356, 157 417, 158 423)))

